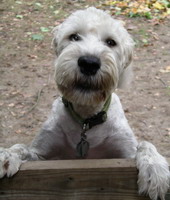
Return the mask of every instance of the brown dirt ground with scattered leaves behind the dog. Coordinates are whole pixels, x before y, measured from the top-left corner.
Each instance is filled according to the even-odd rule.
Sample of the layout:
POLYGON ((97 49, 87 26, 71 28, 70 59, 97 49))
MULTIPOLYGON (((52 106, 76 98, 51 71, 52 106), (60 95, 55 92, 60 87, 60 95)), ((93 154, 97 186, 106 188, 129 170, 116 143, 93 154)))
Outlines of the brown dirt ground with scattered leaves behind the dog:
MULTIPOLYGON (((74 10, 94 2, 1 2, 0 146, 27 144, 38 133, 58 96, 51 30, 74 10)), ((116 93, 137 138, 170 157, 170 20, 116 18, 125 21, 136 42, 131 87, 116 93)))

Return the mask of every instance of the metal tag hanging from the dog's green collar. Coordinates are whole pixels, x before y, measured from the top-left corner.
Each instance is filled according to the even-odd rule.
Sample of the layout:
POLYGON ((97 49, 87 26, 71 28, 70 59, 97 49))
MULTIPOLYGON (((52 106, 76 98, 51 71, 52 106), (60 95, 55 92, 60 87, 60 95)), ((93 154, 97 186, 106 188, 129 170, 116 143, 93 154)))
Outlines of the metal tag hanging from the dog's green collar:
POLYGON ((76 150, 79 158, 85 158, 87 156, 89 143, 85 138, 81 138, 81 141, 77 144, 76 150))

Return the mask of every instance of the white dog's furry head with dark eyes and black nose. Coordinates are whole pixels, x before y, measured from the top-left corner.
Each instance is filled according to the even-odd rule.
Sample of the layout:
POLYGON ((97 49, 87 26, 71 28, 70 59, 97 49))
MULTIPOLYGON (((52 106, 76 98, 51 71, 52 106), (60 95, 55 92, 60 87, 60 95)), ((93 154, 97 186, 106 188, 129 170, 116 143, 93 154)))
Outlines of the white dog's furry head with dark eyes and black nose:
POLYGON ((122 23, 96 8, 73 13, 54 30, 55 80, 73 103, 96 105, 116 89, 132 59, 122 23))

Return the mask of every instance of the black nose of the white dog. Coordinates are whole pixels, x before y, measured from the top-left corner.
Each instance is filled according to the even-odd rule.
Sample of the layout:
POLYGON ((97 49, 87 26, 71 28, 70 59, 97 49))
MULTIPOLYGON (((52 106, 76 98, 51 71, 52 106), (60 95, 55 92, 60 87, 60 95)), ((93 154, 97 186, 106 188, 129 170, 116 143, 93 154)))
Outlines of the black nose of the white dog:
POLYGON ((100 59, 95 56, 81 56, 78 59, 78 66, 81 73, 87 76, 94 76, 100 69, 100 59))

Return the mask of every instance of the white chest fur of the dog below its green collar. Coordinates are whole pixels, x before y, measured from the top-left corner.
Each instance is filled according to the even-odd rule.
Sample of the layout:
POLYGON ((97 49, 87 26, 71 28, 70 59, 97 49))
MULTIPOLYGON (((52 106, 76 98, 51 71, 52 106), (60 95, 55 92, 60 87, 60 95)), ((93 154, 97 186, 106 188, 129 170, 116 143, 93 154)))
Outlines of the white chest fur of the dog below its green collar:
MULTIPOLYGON (((76 146, 80 142, 82 128, 70 116, 61 98, 54 102, 50 119, 48 124, 56 130, 56 141, 52 141, 56 158, 76 159, 76 146)), ((137 142, 116 94, 112 94, 106 122, 92 127, 86 135, 90 144, 87 158, 133 157, 136 152, 137 142)), ((53 155, 48 156, 54 158, 53 155)))

